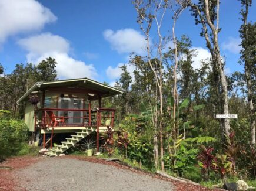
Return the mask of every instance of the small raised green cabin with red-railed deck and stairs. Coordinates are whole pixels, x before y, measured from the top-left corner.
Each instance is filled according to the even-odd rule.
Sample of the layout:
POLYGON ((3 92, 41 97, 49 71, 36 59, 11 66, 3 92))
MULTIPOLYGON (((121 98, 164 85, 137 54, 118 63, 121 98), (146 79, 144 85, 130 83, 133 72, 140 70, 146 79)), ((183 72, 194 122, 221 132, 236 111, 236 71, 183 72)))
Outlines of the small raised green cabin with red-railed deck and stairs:
POLYGON ((102 98, 121 93, 88 78, 41 81, 19 98, 17 104, 25 104, 25 123, 36 141, 42 137, 43 148, 49 145, 46 155, 58 156, 95 131, 98 152, 99 132, 114 127, 115 121, 115 110, 102 108, 102 98), (58 134, 69 137, 53 147, 58 134))

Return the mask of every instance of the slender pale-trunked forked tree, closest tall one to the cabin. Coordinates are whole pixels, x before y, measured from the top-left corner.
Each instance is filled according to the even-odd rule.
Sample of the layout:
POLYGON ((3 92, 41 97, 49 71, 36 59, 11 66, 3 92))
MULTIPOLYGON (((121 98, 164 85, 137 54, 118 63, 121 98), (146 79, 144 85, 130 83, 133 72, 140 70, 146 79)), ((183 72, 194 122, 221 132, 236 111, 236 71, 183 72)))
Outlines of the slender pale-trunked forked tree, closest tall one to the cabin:
MULTIPOLYGON (((155 115, 159 115, 159 122, 158 122, 158 117, 157 121, 155 123, 156 127, 158 128, 159 125, 159 137, 160 137, 160 155, 161 155, 161 169, 164 170, 164 145, 163 145, 163 140, 162 140, 162 114, 163 114, 163 88, 162 88, 162 82, 163 82, 163 63, 162 63, 162 58, 163 58, 163 53, 162 49, 164 47, 163 43, 163 36, 161 33, 161 26, 162 26, 162 21, 165 15, 165 12, 168 8, 169 2, 168 1, 144 1, 144 0, 135 0, 134 2, 135 9, 137 11, 137 22, 139 23, 139 26, 141 30, 144 32, 144 35, 146 36, 147 40, 147 60, 148 64, 154 73, 155 81, 157 83, 157 93, 155 94, 155 100, 157 103, 157 100, 159 98, 159 114, 158 114, 158 107, 157 105, 154 106, 155 108, 155 115), (151 25, 152 22, 155 21, 157 25, 157 43, 156 43, 156 54, 155 54, 155 59, 151 59, 151 43, 150 43, 150 32, 151 32, 151 25), (152 62, 153 61, 153 62, 152 62), (157 67, 159 66, 159 67, 157 67)), ((155 137, 156 139, 156 137, 155 137)), ((154 141, 155 142, 155 141, 154 141)), ((155 148, 155 147, 154 147, 155 148)), ((157 168, 157 166, 156 166, 157 168)))

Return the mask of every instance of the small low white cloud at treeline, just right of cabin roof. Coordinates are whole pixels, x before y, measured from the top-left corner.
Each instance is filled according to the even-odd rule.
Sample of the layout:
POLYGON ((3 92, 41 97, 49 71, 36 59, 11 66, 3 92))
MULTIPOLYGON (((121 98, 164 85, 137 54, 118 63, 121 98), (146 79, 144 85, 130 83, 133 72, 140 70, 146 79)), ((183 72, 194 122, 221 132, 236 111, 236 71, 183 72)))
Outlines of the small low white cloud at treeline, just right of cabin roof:
POLYGON ((130 64, 124 64, 124 63, 119 63, 117 65, 117 67, 112 67, 112 66, 108 66, 107 70, 106 70, 106 74, 108 76, 109 79, 119 79, 119 77, 122 74, 122 69, 120 69, 120 66, 127 66, 127 71, 129 72, 129 74, 132 76, 132 78, 134 77, 134 70, 135 70, 135 66, 130 65, 130 64))

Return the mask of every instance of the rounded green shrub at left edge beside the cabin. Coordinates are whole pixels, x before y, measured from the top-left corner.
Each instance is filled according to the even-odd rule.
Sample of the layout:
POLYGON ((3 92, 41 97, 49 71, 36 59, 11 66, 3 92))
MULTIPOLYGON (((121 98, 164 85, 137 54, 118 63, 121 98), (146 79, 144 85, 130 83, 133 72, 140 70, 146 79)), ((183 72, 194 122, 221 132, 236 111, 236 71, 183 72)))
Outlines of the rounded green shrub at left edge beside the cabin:
POLYGON ((0 161, 16 155, 28 139, 28 127, 22 120, 0 120, 0 161))

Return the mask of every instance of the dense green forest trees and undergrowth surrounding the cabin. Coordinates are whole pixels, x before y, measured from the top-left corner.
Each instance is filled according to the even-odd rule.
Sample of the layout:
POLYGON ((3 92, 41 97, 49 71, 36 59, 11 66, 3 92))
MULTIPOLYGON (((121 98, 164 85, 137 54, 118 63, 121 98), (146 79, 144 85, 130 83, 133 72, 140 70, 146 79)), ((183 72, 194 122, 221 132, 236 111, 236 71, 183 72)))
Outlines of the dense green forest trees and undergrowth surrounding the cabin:
MULTIPOLYGON (((109 129, 102 151, 197 182, 255 180, 256 23, 247 21, 252 1, 240 2, 242 50, 237 64, 244 71, 229 75, 224 72, 225 58, 218 45, 218 0, 132 2, 148 43, 147 56, 131 54, 129 64, 135 70, 129 73, 122 66, 115 84, 124 94, 102 101, 104 107, 117 109, 117 133, 112 138, 109 129), (190 9, 195 24, 201 26, 199 35, 211 53, 209 59, 201 60, 199 69, 192 67, 197 57, 192 39, 175 35, 175 23, 185 9, 190 9), (172 19, 172 33, 161 33, 165 16, 172 19), (166 47, 169 42, 173 46, 166 47), (216 114, 237 114, 238 118, 220 120, 216 114)), ((0 108, 22 118, 24 107, 16 107, 16 101, 35 81, 56 80, 56 64, 52 58, 38 66, 17 64, 11 74, 0 66, 0 108)), ((26 132, 21 121, 1 120, 1 145, 12 142, 15 148, 16 141, 26 139, 19 136, 21 132, 26 132)), ((0 155, 8 151, 1 146, 0 155)))

